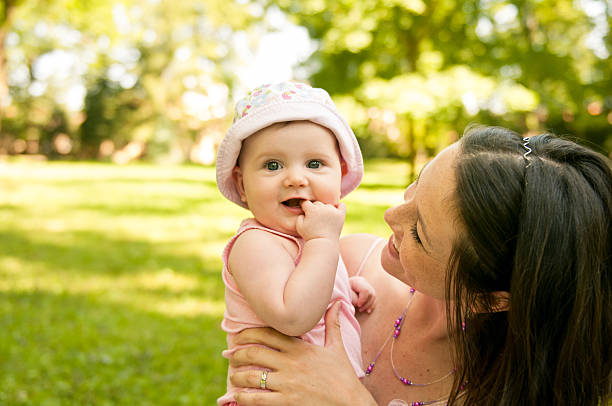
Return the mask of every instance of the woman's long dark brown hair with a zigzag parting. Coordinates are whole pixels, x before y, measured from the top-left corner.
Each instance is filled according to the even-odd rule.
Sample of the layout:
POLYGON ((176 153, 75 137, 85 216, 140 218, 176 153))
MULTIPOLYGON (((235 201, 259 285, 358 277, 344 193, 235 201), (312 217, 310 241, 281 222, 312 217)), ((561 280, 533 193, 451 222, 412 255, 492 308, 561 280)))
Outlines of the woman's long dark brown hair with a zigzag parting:
POLYGON ((459 366, 449 404, 606 405, 610 162, 551 134, 529 138, 525 157, 523 142, 499 127, 460 140, 455 204, 465 231, 446 282, 459 366), (496 291, 510 292, 507 311, 494 311, 496 291))

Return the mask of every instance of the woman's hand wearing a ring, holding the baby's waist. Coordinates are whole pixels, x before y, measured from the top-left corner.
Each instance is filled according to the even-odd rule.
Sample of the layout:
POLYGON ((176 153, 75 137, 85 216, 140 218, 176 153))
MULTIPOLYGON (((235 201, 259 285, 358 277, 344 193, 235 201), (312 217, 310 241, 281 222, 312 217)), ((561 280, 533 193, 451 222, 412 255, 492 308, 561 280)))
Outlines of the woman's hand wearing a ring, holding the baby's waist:
MULTIPOLYGON (((252 346, 234 353, 234 367, 258 365, 270 370, 266 388, 270 392, 238 392, 240 405, 376 405, 359 382, 346 356, 340 323, 338 302, 325 315, 325 347, 285 336, 271 328, 243 330, 236 344, 265 344, 270 348, 252 346), (274 351, 276 350, 276 351, 274 351)), ((235 372, 232 384, 243 388, 259 388, 262 372, 235 372)))

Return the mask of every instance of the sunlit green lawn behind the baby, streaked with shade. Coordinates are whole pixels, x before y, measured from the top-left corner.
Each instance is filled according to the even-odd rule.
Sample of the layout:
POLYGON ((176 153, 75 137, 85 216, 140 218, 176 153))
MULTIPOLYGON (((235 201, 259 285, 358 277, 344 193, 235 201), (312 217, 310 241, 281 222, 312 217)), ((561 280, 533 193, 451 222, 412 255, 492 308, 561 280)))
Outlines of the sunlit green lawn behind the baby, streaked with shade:
MULTIPOLYGON (((405 173, 369 162, 344 233, 387 235, 405 173)), ((215 404, 220 253, 247 215, 214 168, 0 162, 0 404, 215 404)))

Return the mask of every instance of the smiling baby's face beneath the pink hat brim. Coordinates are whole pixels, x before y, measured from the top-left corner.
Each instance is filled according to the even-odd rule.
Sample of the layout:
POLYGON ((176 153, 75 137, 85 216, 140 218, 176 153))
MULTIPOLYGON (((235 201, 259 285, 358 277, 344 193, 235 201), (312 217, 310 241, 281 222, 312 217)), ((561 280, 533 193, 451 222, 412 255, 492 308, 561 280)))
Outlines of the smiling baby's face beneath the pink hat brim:
POLYGON ((303 200, 338 204, 342 165, 336 137, 310 121, 274 124, 242 144, 234 180, 257 221, 297 235, 303 200))

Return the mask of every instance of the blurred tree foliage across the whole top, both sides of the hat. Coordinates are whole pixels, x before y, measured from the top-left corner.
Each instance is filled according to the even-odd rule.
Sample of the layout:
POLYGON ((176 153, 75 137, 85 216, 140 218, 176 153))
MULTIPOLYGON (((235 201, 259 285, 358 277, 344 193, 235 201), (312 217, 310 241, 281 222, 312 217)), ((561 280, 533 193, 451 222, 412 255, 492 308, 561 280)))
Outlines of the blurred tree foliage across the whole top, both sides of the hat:
POLYGON ((0 99, 11 73, 0 153, 17 152, 11 143, 20 139, 59 157, 58 134, 69 136, 67 156, 77 158, 98 158, 108 140, 116 150, 135 142, 154 161, 185 159, 204 137, 218 144, 241 85, 237 66, 249 62, 234 40, 254 50, 279 9, 316 41, 302 78, 342 104, 366 156, 416 164, 471 122, 573 134, 612 149, 605 0, 0 4, 14 11, 0 30, 0 99), (67 74, 45 73, 58 61, 67 74), (71 94, 85 94, 85 104, 69 106, 71 94))

